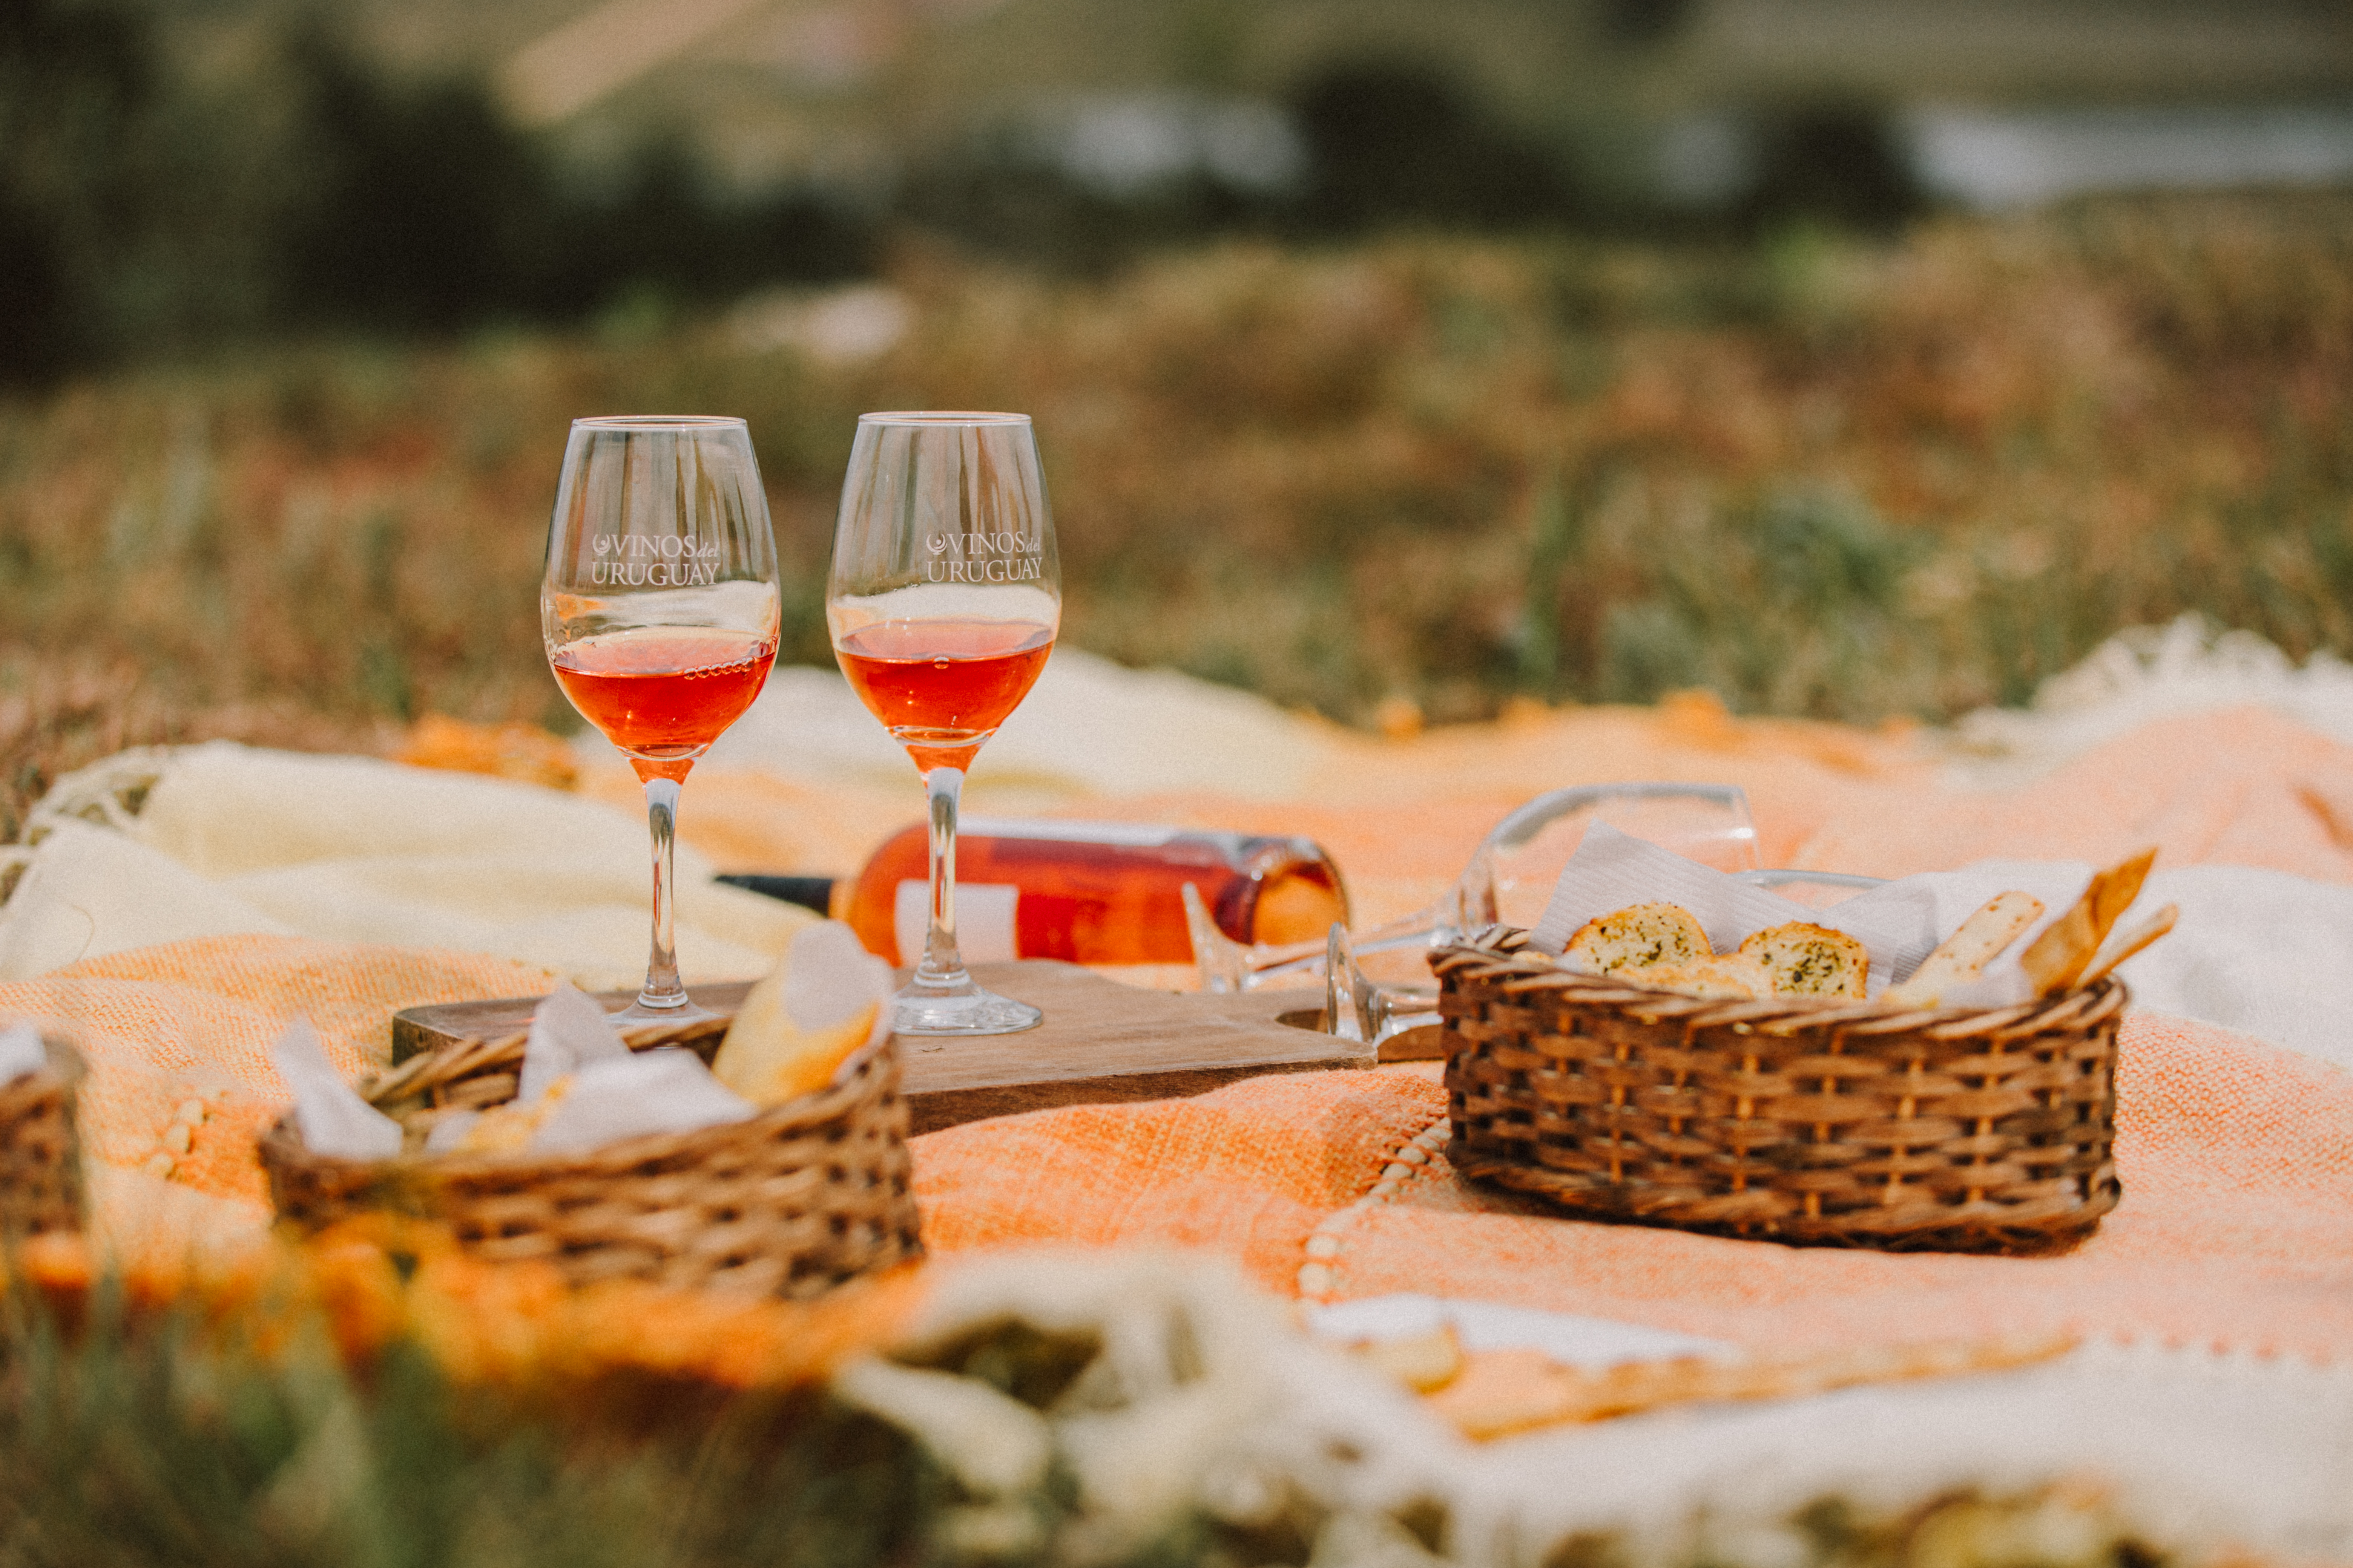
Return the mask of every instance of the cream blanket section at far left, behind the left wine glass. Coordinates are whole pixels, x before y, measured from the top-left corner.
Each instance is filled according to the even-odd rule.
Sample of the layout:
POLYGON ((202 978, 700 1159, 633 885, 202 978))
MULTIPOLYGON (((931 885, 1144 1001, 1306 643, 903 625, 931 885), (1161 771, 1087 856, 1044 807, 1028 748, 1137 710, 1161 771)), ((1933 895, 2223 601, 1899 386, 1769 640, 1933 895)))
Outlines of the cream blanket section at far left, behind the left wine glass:
MULTIPOLYGON (((240 933, 492 952, 588 990, 645 978, 645 818, 555 790, 216 741, 59 780, 26 837, 0 980, 240 933)), ((678 846, 687 980, 758 978, 809 919, 678 846)))

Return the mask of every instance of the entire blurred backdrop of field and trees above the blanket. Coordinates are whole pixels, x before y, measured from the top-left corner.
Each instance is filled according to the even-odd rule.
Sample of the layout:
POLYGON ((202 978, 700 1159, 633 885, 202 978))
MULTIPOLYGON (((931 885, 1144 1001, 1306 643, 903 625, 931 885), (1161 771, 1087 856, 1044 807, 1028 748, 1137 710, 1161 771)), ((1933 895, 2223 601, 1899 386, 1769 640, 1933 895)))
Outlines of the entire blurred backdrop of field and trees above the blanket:
POLYGON ((1033 411, 1071 639, 1344 722, 2353 649, 2353 21, 1889 7, 16 0, 0 783, 569 724, 529 604, 616 409, 751 418, 812 663, 873 407, 1033 411), (2318 162, 2132 174, 2184 127, 2318 162))

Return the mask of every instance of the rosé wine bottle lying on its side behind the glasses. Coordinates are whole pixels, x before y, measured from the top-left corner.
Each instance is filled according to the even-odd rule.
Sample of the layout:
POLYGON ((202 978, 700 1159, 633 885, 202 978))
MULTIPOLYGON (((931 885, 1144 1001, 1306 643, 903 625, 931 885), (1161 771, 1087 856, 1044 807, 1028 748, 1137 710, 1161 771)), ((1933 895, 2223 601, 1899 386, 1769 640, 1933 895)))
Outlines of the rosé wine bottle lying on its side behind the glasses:
MULTIPOLYGON (((894 964, 920 957, 929 896, 922 823, 856 877, 725 877, 849 922, 894 964)), ((1348 919, 1339 867, 1315 842, 1134 823, 972 816, 955 835, 955 926, 967 961, 1188 964, 1184 884, 1238 943, 1320 938, 1348 919)))

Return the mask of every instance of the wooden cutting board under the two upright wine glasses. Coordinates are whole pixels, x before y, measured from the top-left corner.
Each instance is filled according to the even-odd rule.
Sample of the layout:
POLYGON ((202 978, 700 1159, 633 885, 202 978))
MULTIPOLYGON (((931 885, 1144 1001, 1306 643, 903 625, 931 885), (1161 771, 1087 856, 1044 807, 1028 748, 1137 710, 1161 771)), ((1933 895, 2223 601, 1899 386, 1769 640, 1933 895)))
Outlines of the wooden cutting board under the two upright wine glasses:
MULTIPOLYGON (((1198 1095, 1261 1072, 1372 1065, 1358 1041, 1313 1027, 1315 992, 1184 997, 1120 985, 1052 959, 974 964, 972 976, 988 990, 1045 1009, 1045 1023, 1019 1034, 901 1037, 901 1088, 918 1133, 1047 1105, 1198 1095), (1282 1023, 1285 1013, 1308 1027, 1282 1023)), ((694 987, 694 1001, 718 1013, 711 1034, 725 1032, 746 990, 694 987)), ((598 999, 619 1011, 635 992, 598 999)), ((393 1016, 393 1060, 454 1039, 515 1034, 529 1027, 534 1006, 539 997, 407 1009, 393 1016)), ((1402 1037, 1391 1044, 1402 1044, 1402 1037)), ((1384 1058, 1398 1060, 1409 1051, 1384 1051, 1384 1058)))

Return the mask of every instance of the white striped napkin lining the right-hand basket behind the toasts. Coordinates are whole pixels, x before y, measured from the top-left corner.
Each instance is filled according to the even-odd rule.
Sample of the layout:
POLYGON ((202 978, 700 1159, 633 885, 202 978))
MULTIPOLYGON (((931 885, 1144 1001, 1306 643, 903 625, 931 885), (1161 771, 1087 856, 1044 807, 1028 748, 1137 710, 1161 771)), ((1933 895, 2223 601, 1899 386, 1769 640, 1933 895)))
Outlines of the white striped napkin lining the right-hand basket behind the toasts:
POLYGON ((1584 842, 1553 884, 1553 900, 1529 933, 1529 945, 1558 954, 1588 919, 1631 903, 1678 903, 1708 931, 1718 952, 1746 936, 1802 919, 1845 931, 1871 952, 1868 994, 1904 980, 1962 919, 1995 893, 2019 889, 2042 900, 2042 914, 1969 987, 1946 992, 1951 1004, 2005 1006, 2028 994, 2019 954, 2059 919, 2092 882, 2075 860, 1979 860, 1958 872, 1925 872, 1868 889, 1826 910, 1734 882, 1729 875, 1645 844, 1607 823, 1586 827, 1584 842))

